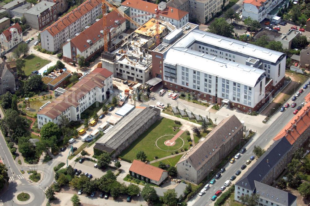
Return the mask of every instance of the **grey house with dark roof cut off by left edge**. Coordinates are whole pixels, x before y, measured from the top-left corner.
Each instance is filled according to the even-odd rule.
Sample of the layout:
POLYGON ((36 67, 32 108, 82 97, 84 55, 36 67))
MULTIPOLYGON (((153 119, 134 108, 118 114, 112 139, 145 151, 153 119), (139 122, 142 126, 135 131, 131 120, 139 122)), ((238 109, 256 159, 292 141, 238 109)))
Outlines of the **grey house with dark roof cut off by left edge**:
POLYGON ((10 63, 0 58, 0 95, 6 92, 15 93, 16 82, 18 83, 16 79, 17 75, 15 76, 15 71, 10 67, 10 63))

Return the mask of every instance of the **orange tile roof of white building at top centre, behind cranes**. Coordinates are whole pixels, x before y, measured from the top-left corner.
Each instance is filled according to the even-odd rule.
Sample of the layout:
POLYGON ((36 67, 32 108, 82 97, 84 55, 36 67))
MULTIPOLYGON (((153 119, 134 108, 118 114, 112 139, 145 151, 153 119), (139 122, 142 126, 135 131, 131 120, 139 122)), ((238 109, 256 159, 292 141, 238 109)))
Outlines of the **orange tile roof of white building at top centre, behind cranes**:
MULTIPOLYGON (((139 9, 141 11, 146 11, 151 14, 155 14, 155 9, 157 9, 157 4, 146 2, 143 0, 126 0, 122 2, 123 6, 131 7, 135 9, 139 9)), ((188 12, 179 10, 177 8, 167 6, 164 11, 160 14, 160 16, 165 16, 171 19, 180 20, 184 16, 186 16, 188 12), (173 9, 173 11, 171 11, 173 9)))

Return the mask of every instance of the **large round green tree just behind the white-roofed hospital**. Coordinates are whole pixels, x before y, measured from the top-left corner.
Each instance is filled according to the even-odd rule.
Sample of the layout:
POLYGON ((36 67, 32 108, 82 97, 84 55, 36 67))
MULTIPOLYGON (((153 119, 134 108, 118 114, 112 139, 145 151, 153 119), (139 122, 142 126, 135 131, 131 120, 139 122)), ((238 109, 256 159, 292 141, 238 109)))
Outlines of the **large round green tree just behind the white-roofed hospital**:
POLYGON ((209 26, 209 32, 224 37, 233 37, 233 26, 228 24, 224 18, 216 18, 209 26))

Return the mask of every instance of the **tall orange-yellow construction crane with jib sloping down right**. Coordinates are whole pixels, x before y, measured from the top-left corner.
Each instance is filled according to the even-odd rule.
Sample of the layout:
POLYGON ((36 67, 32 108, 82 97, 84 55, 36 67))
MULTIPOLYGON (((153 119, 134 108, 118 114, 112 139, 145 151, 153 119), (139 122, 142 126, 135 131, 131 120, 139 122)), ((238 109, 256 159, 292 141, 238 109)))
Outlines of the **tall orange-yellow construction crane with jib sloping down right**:
POLYGON ((118 14, 120 14, 121 16, 123 16, 126 20, 130 21, 132 24, 134 24, 135 26, 137 26, 138 28, 140 27, 140 25, 135 22, 134 20, 132 20, 129 16, 127 16, 123 11, 117 9, 115 6, 113 6, 112 4, 110 4, 108 1, 106 0, 102 0, 102 18, 103 18, 103 39, 104 39, 104 52, 108 52, 108 30, 107 30, 107 7, 106 5, 108 5, 108 7, 112 8, 113 11, 116 11, 118 14))

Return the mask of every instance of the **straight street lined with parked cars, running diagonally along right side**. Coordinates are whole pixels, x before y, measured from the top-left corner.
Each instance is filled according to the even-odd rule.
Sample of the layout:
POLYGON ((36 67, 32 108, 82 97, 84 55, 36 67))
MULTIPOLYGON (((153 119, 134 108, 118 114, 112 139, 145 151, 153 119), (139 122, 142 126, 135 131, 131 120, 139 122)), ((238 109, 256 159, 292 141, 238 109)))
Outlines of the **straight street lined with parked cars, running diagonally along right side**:
MULTIPOLYGON (((302 87, 303 85, 300 88, 302 87)), ((296 89, 296 91, 298 90, 296 89)), ((307 88, 294 102, 290 99, 289 101, 287 101, 287 103, 289 103, 290 105, 292 103, 297 103, 298 106, 304 101, 304 97, 309 92, 310 89, 307 88)), ((254 138, 247 142, 247 144, 245 145, 246 152, 241 155, 241 157, 237 159, 235 163, 228 163, 227 165, 225 165, 226 171, 222 174, 222 177, 219 178, 219 180, 217 180, 214 185, 211 185, 210 189, 207 190, 204 195, 202 195, 201 197, 197 195, 195 198, 188 202, 188 205, 206 206, 214 203, 211 200, 211 197, 217 190, 219 190, 221 186, 224 186, 224 182, 226 180, 229 180, 232 175, 235 175, 237 170, 240 170, 241 174, 239 176, 235 175, 237 176, 237 179, 232 181, 232 183, 235 184, 237 181, 239 181, 242 178, 242 175, 246 172, 246 170, 249 169, 250 166, 252 166, 256 161, 252 161, 252 163, 247 166, 245 171, 241 170, 241 166, 245 164, 246 160, 248 160, 250 156, 254 155, 254 153, 252 152, 254 146, 259 145, 261 148, 265 148, 266 146, 268 146, 270 144, 270 141, 272 141, 272 139, 278 134, 278 132, 280 132, 281 129, 294 117, 293 111, 296 109, 296 107, 289 107, 284 112, 278 111, 267 123, 270 126, 265 130, 265 132, 263 132, 262 135, 254 136, 254 138)))

